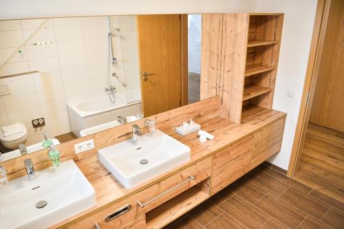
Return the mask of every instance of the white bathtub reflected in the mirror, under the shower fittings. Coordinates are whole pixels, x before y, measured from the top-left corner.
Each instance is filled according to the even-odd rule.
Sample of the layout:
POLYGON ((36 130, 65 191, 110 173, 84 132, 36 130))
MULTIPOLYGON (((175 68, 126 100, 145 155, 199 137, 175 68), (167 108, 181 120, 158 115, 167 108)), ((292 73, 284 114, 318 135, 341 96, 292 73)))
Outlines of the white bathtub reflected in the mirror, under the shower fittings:
POLYGON ((101 96, 67 104, 73 133, 80 138, 83 129, 118 120, 118 116, 136 116, 141 110, 140 89, 116 93, 115 101, 101 96))

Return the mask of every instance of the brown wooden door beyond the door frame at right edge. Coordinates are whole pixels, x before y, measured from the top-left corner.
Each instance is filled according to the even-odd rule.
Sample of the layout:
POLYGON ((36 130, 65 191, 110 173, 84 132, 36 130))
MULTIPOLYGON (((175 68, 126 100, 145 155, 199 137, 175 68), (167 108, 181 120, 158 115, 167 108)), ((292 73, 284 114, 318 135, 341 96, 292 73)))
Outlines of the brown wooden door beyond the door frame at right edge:
POLYGON ((310 122, 344 132, 344 1, 332 0, 310 122))

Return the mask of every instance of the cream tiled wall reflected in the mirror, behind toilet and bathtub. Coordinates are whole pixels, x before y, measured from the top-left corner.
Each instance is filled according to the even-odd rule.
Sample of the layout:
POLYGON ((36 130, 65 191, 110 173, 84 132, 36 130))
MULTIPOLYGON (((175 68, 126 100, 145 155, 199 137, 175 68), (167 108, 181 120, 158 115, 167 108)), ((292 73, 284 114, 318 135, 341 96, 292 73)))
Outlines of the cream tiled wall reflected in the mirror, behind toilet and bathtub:
MULTIPOLYGON (((0 85, 8 84, 11 91, 0 96, 0 127, 25 124, 29 146, 43 140, 42 131, 50 138, 70 133, 67 104, 102 96, 109 100, 105 93, 109 85, 121 96, 121 107, 140 102, 136 16, 109 19, 116 57, 116 63, 109 65, 107 17, 0 21, 0 77, 37 71, 0 78, 0 85), (39 117, 45 118, 45 127, 34 129, 31 120, 39 117)), ((139 110, 131 106, 93 124, 139 110)), ((1 150, 8 151, 3 146, 1 150)))

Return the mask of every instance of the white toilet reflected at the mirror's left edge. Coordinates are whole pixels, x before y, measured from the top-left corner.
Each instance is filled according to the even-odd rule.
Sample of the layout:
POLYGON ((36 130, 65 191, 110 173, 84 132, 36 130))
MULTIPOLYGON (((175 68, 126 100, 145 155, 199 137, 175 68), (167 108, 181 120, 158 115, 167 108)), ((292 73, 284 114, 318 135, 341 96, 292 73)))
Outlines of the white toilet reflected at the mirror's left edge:
POLYGON ((17 149, 19 144, 24 144, 28 137, 28 131, 24 124, 19 123, 17 125, 21 131, 4 137, 3 131, 0 129, 0 142, 7 149, 17 149))

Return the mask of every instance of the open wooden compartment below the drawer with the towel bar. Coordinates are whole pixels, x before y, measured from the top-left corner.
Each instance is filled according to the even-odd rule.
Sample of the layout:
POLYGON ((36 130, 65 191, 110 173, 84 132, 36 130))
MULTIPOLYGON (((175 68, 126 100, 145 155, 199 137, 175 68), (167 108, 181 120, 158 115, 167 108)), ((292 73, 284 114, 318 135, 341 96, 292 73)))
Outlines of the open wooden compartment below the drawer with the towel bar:
POLYGON ((195 206, 201 204, 205 199, 208 199, 208 195, 200 190, 200 188, 197 186, 190 188, 165 204, 162 204, 162 206, 147 212, 147 228, 162 228, 192 208, 195 208, 195 206))

